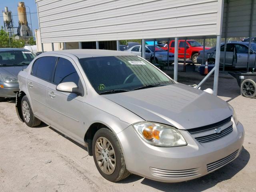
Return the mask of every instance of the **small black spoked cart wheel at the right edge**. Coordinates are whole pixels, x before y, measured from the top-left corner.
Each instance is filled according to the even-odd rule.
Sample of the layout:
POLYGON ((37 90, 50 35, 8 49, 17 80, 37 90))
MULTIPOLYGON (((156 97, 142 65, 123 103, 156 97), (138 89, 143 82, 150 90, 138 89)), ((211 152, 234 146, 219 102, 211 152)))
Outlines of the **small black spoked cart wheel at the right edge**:
POLYGON ((241 84, 241 93, 242 96, 247 98, 254 98, 256 97, 256 83, 251 79, 246 79, 241 84))

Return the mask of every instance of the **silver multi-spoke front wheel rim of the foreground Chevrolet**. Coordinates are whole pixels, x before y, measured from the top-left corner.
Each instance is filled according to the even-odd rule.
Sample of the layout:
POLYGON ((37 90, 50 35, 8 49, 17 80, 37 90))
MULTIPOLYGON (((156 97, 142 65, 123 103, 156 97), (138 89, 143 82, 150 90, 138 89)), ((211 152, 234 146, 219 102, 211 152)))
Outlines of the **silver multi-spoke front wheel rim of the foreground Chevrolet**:
POLYGON ((110 175, 116 168, 116 155, 111 142, 99 137, 95 143, 95 156, 98 166, 104 174, 110 175))

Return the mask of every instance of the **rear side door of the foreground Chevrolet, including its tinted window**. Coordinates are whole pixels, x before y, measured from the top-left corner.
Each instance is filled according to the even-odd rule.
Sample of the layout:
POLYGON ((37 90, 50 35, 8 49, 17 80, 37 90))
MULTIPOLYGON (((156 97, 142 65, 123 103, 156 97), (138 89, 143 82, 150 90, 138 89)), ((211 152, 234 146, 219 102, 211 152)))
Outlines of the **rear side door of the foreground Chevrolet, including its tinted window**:
POLYGON ((38 118, 49 122, 47 118, 46 88, 51 80, 56 64, 56 57, 44 56, 35 60, 31 73, 27 76, 26 84, 30 96, 32 110, 38 118))

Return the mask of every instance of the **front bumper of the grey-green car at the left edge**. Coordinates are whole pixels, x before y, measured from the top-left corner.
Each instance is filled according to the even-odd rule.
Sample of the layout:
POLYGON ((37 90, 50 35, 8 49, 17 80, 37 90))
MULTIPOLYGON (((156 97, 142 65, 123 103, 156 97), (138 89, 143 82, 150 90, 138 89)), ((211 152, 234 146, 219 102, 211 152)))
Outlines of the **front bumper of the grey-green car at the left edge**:
POLYGON ((16 93, 19 92, 19 83, 6 83, 0 82, 0 97, 12 98, 16 97, 16 93), (3 88, 2 88, 3 86, 3 88))

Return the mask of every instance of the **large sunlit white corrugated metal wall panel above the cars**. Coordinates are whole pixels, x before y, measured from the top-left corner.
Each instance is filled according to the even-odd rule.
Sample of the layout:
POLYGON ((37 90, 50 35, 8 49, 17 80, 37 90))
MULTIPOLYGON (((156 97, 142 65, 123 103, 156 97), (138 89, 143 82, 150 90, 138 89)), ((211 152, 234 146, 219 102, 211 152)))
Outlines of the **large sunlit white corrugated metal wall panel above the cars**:
POLYGON ((222 0, 36 0, 42 43, 187 36, 221 31, 222 0))

